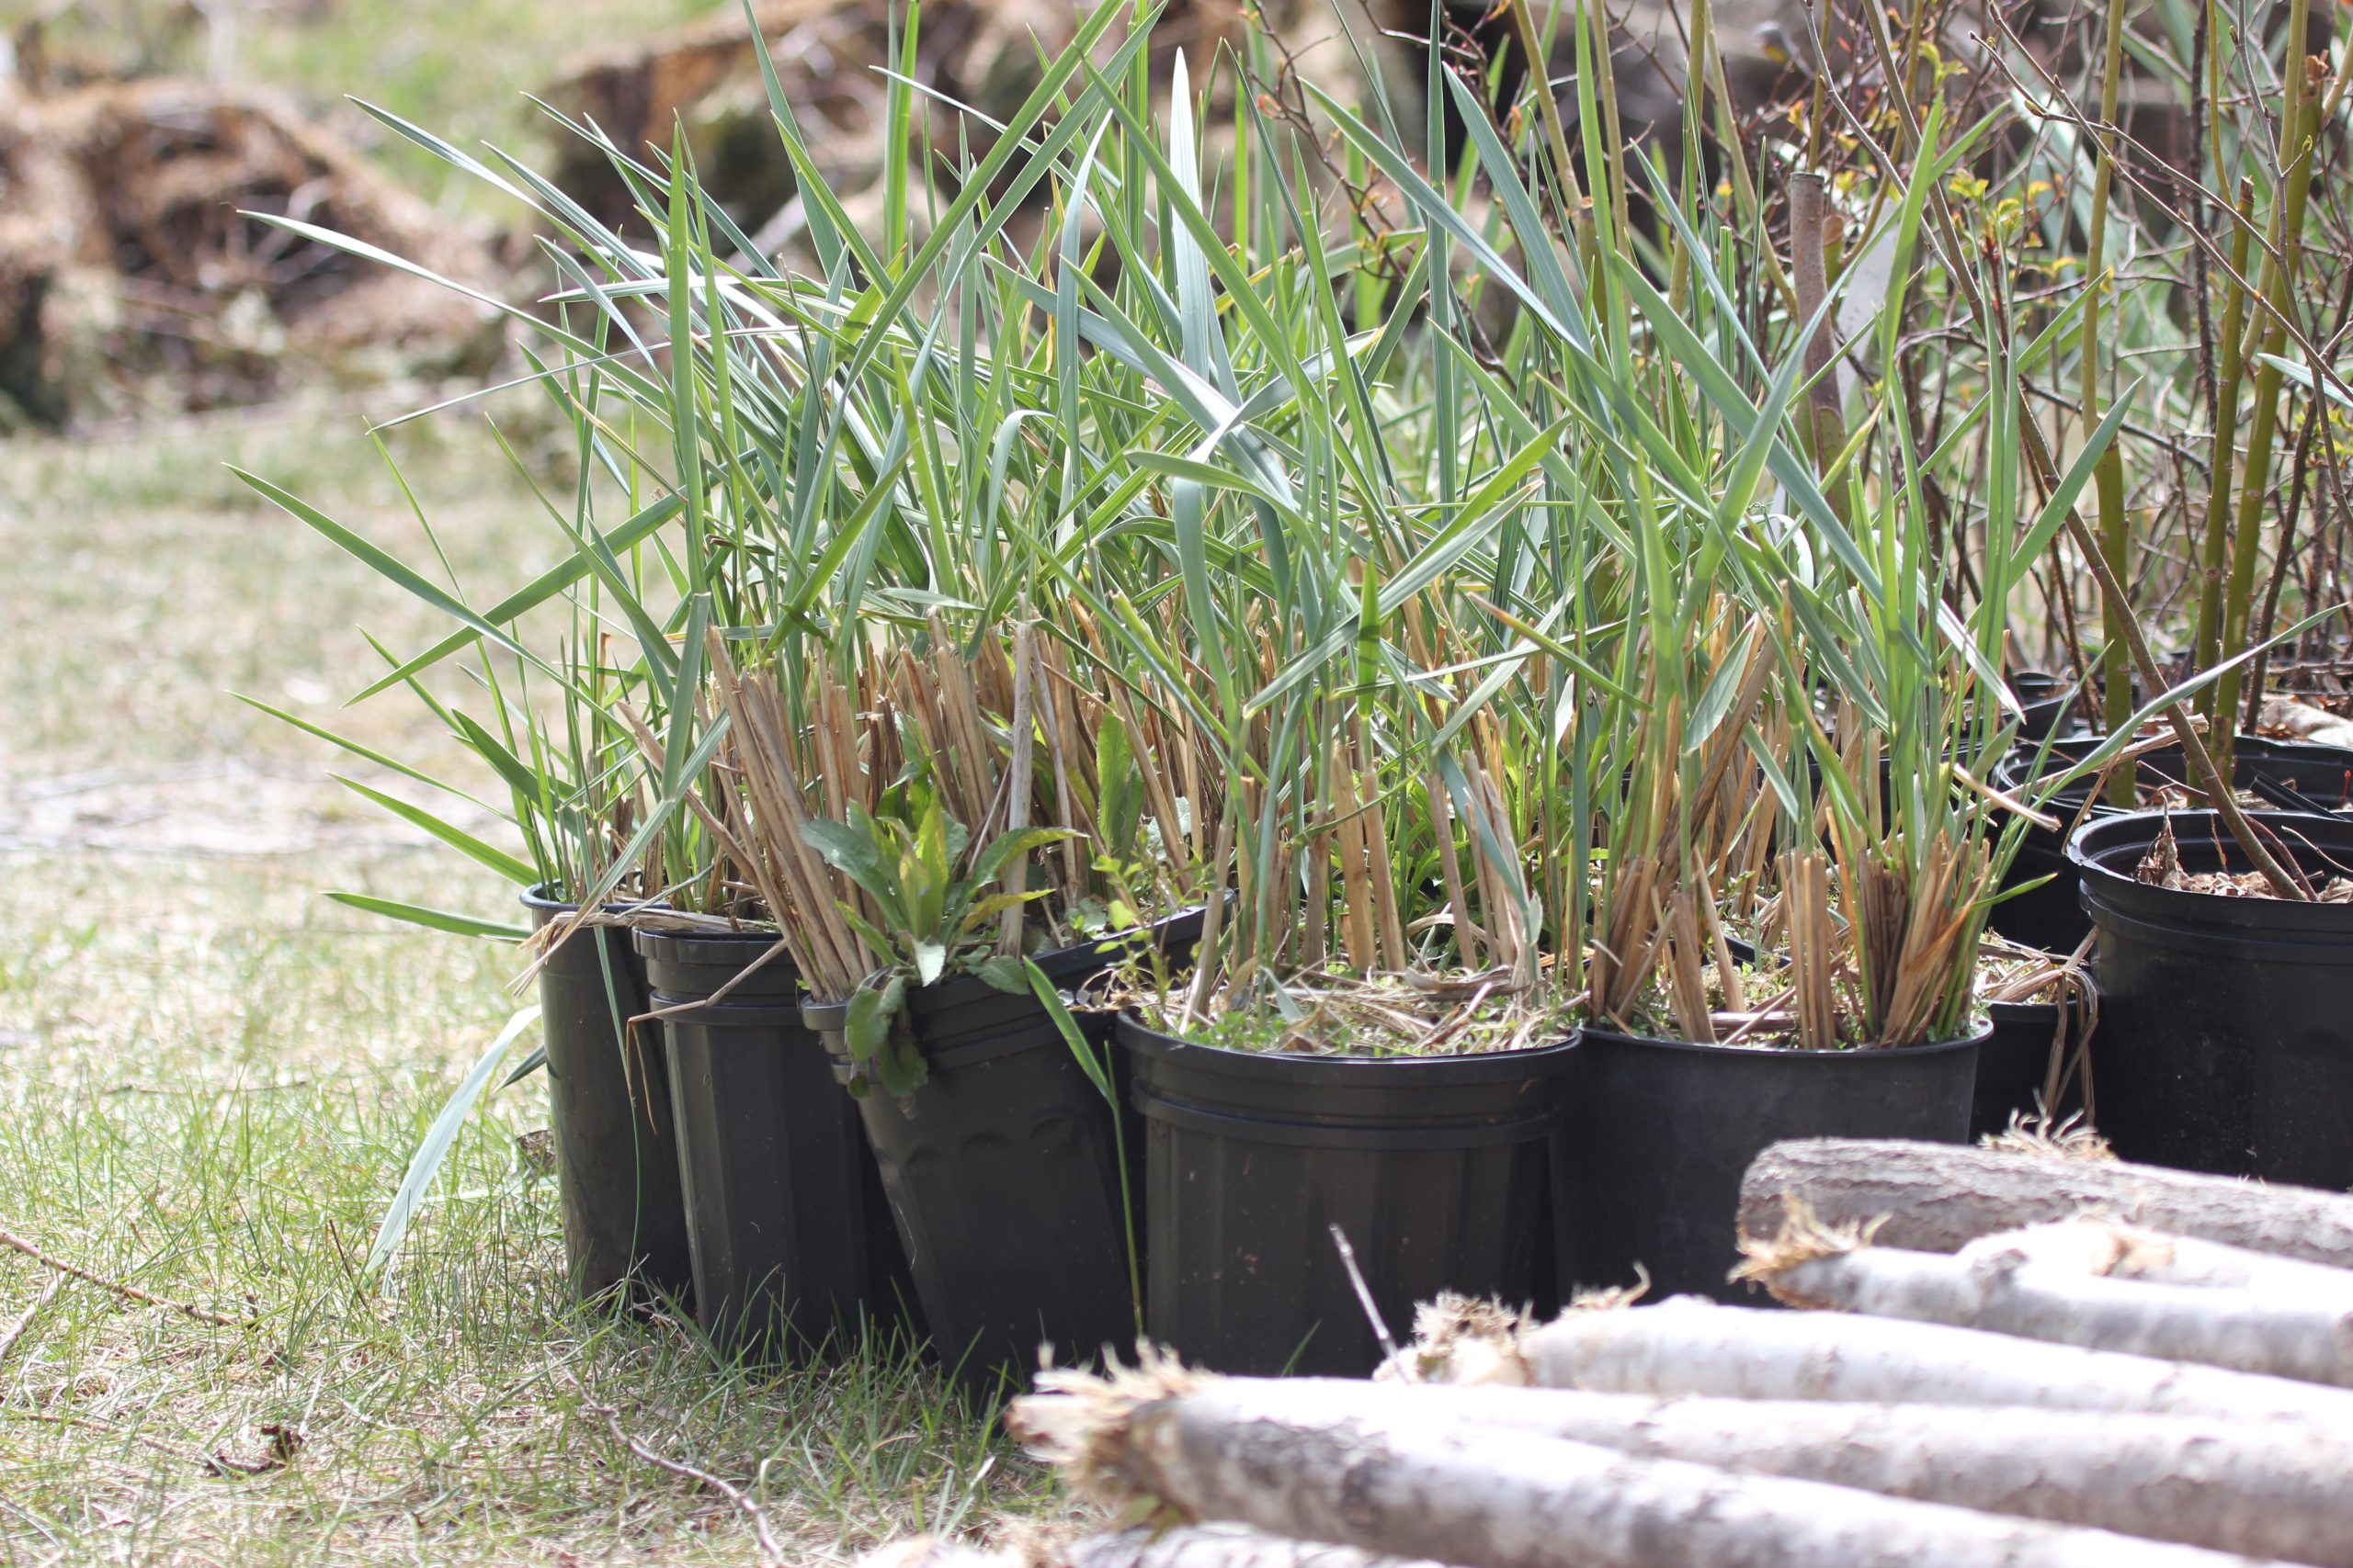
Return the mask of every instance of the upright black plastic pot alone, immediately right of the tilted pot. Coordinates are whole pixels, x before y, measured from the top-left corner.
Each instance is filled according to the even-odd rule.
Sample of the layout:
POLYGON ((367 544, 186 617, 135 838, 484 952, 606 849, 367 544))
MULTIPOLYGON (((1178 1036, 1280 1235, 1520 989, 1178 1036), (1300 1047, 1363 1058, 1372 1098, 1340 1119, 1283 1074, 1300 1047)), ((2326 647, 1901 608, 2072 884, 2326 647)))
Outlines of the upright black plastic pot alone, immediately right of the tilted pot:
POLYGON ((1574 1044, 1431 1058, 1200 1046, 1120 1018, 1146 1121, 1144 1328, 1219 1373, 1362 1378, 1464 1291, 1548 1300, 1551 1145, 1574 1044))

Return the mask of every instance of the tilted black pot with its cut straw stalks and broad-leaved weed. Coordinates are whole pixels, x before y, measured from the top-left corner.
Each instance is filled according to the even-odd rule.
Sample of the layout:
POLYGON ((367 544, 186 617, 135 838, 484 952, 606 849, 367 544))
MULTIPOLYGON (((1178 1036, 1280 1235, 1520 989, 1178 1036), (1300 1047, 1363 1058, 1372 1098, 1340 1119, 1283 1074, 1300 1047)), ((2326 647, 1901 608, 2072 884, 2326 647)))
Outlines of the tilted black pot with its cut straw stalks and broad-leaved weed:
POLYGON ((1040 809, 1019 741, 991 741, 1033 722, 1035 672, 1007 668, 1019 691, 995 710, 929 632, 925 658, 866 665, 859 698, 821 675, 842 719, 824 729, 781 717, 772 670, 722 663, 741 778, 725 811, 807 987, 805 1056, 831 1063, 849 1091, 831 1100, 880 1161, 932 1340, 986 1387, 1040 1345, 1132 1338, 1127 1180, 1099 1053, 1059 1001, 1104 966, 1099 938, 1068 924, 1059 877, 1028 886, 1075 830, 1040 809))

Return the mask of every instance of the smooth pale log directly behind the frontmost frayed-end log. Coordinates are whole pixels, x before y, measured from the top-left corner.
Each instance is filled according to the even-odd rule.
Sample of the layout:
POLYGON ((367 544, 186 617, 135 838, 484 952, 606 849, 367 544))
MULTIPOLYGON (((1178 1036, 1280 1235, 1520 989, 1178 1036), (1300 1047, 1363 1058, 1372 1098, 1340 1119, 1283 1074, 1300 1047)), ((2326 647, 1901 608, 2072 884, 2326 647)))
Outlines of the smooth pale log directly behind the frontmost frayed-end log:
MULTIPOLYGON (((1268 1387, 1268 1403, 1280 1403, 1268 1387)), ((2282 1422, 1332 1382, 1398 1427, 1600 1443, 2214 1552, 2353 1568, 2353 1436, 2282 1422)))

